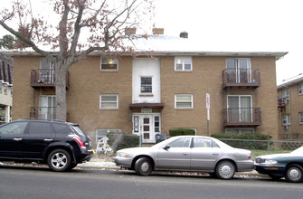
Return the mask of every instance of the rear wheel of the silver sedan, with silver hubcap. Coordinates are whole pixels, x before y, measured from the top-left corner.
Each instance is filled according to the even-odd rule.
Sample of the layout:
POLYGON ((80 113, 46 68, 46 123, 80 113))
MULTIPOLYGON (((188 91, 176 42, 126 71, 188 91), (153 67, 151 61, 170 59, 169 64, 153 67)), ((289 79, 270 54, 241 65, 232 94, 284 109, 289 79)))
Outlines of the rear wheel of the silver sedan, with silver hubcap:
POLYGON ((215 174, 223 180, 232 179, 235 173, 235 166, 231 161, 224 160, 218 164, 215 174))

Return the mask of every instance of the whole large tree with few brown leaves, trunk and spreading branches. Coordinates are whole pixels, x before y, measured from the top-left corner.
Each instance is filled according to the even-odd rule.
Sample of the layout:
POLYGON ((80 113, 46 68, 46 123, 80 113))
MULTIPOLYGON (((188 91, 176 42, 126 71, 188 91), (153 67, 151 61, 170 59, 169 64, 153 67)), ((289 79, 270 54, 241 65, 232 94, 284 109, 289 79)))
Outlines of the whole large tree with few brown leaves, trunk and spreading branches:
MULTIPOLYGON (((44 1, 45 2, 45 1, 44 1)), ((52 0, 49 13, 56 25, 43 15, 34 16, 31 0, 14 0, 11 9, 0 13, 0 24, 19 39, 15 47, 31 47, 54 64, 56 118, 66 120, 66 74, 72 64, 91 52, 132 52, 123 45, 124 30, 136 27, 140 18, 152 15, 152 0, 52 0), (13 27, 18 20, 18 27, 13 27), (17 29, 17 30, 16 30, 17 29), (84 39, 85 38, 85 39, 84 39), (43 51, 52 46, 53 52, 43 51)), ((131 40, 131 37, 128 37, 131 40)))

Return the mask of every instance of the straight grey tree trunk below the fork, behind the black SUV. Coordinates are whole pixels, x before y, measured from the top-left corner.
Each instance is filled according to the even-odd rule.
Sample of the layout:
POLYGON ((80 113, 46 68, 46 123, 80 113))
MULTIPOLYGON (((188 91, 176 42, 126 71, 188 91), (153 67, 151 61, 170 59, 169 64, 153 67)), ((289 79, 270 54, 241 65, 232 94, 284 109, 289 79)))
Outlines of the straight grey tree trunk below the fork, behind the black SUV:
POLYGON ((67 120, 66 107, 66 74, 67 70, 63 69, 58 63, 55 64, 56 75, 56 118, 62 121, 67 120))

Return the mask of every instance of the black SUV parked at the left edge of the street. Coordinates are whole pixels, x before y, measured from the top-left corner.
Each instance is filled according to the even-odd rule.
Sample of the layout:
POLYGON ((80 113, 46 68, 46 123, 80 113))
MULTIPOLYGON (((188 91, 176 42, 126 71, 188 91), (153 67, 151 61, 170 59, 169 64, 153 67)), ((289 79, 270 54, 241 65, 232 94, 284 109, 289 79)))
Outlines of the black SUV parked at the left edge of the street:
POLYGON ((0 126, 0 161, 37 162, 67 171, 92 155, 90 137, 77 124, 19 119, 0 126))

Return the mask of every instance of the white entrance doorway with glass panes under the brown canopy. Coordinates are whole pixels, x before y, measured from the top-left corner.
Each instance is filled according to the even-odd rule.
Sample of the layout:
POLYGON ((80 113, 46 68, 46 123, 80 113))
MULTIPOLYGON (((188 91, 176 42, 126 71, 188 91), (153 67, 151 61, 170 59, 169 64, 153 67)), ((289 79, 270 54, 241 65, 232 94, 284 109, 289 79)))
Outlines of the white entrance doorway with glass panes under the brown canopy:
POLYGON ((133 133, 142 137, 142 143, 156 143, 155 135, 160 133, 160 129, 159 113, 133 114, 133 133))

